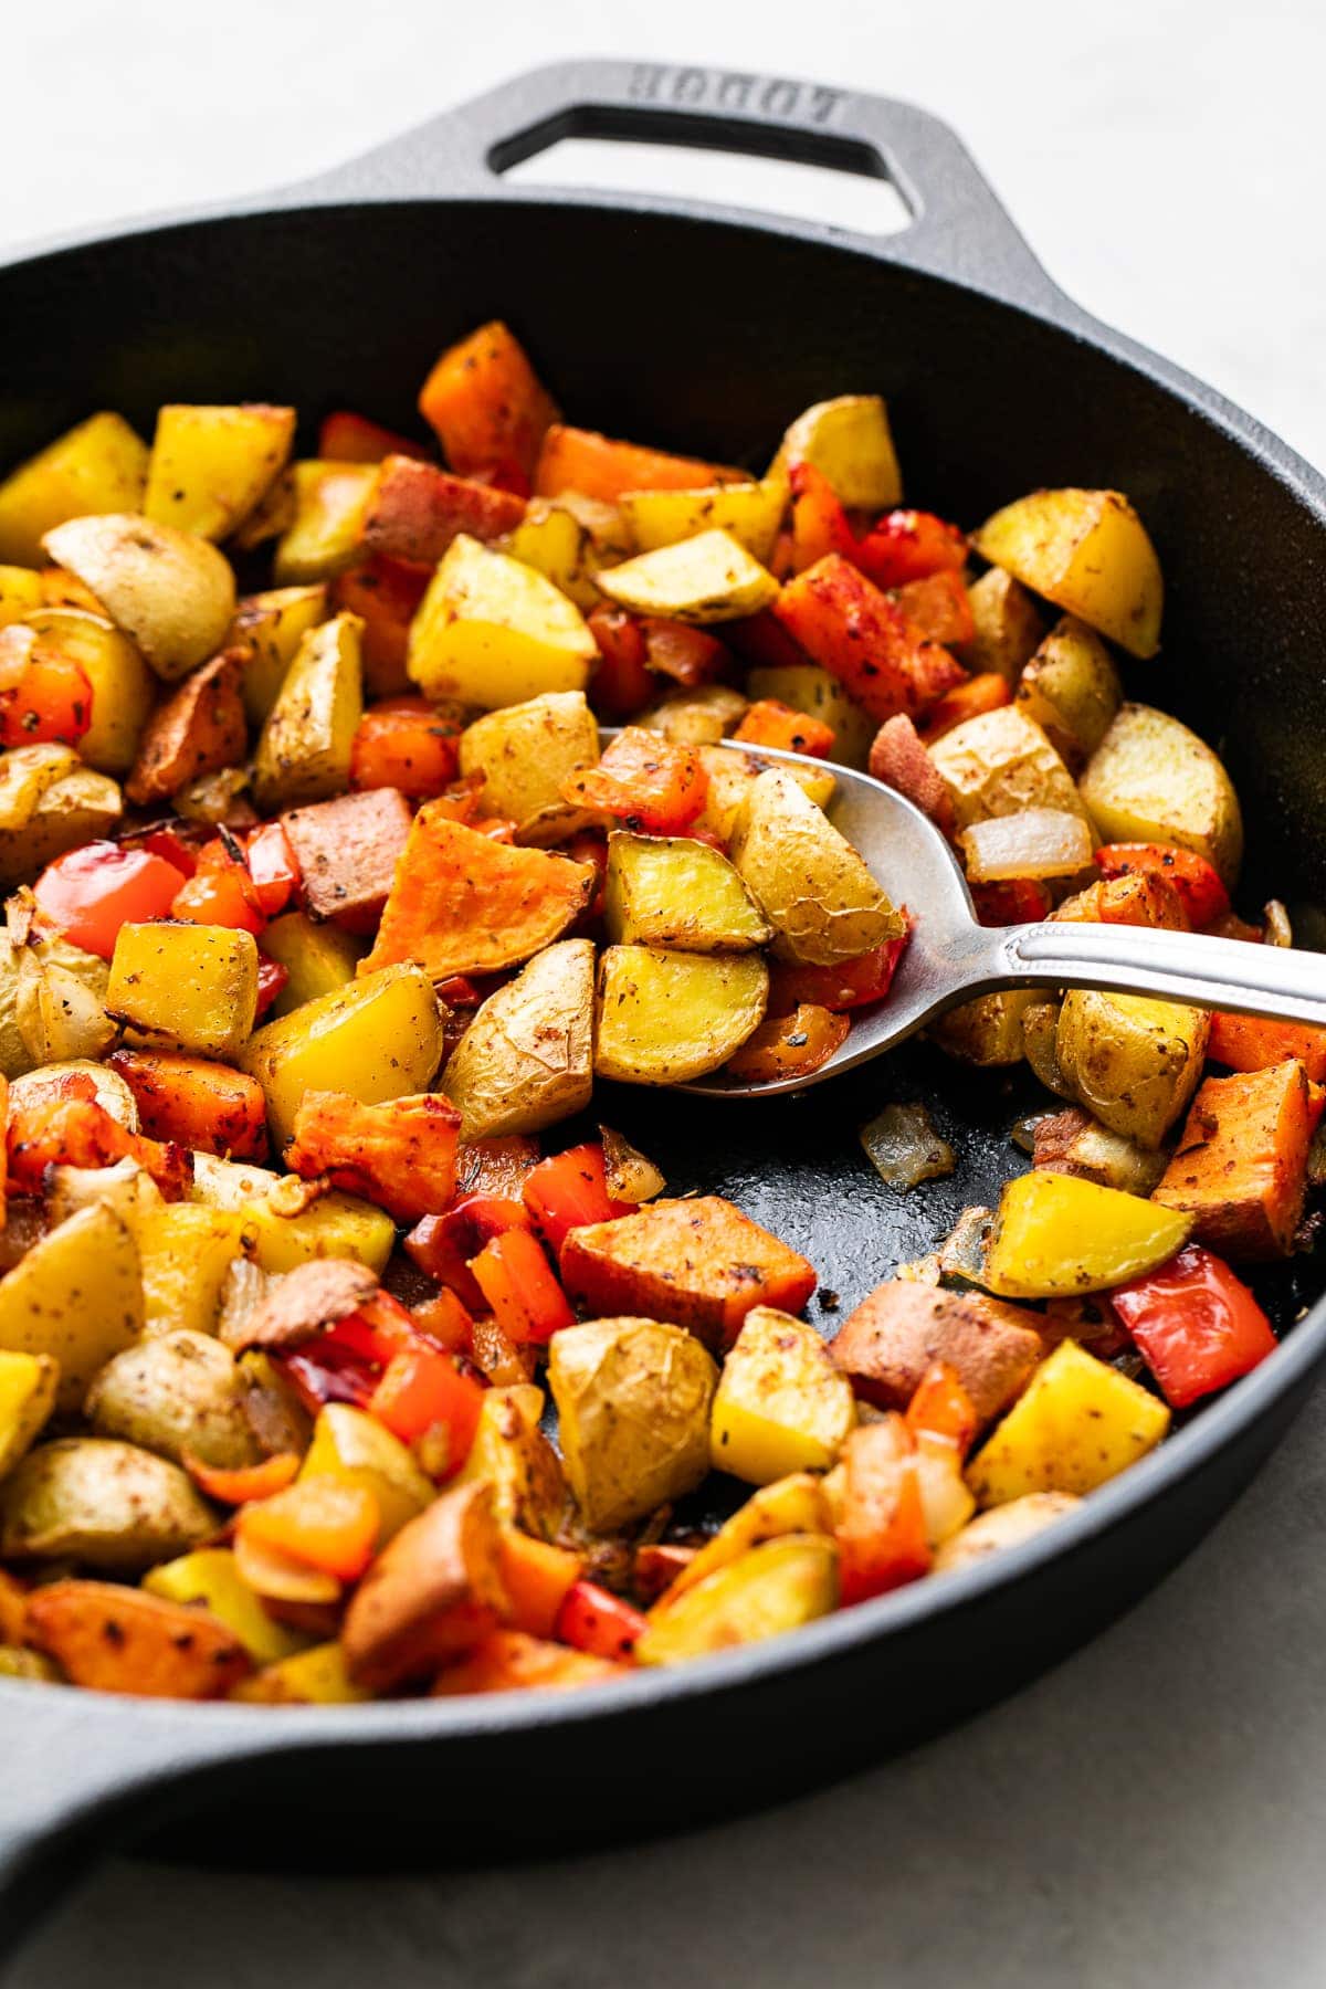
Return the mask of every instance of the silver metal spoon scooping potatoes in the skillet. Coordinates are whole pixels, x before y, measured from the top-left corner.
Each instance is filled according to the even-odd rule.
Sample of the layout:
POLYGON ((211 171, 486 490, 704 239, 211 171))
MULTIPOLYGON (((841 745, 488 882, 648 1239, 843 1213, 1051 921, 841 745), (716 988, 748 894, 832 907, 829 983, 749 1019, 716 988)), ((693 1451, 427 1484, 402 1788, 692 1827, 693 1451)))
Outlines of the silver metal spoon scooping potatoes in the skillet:
MULTIPOLYGON (((751 754, 825 766, 771 748, 751 748, 751 754)), ((809 1076, 746 1084, 716 1070, 678 1090, 712 1098, 801 1092, 881 1056, 946 1008, 996 989, 1113 989, 1326 1026, 1324 953, 1068 919, 1060 925, 978 925, 958 859, 934 823, 869 774, 845 766, 831 772, 837 780, 831 821, 861 851, 895 905, 907 905, 914 919, 889 996, 875 1008, 855 1010, 843 1046, 809 1076)))

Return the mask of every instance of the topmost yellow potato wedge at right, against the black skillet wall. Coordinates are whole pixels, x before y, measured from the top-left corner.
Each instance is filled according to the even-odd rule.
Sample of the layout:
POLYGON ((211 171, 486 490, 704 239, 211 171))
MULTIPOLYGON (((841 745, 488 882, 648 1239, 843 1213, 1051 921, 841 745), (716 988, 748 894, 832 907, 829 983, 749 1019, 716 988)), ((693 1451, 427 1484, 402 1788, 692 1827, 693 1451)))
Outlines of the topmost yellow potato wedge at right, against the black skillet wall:
POLYGON ((1133 656, 1161 644, 1165 587, 1147 527, 1119 491, 1032 491, 972 535, 982 559, 1133 656))

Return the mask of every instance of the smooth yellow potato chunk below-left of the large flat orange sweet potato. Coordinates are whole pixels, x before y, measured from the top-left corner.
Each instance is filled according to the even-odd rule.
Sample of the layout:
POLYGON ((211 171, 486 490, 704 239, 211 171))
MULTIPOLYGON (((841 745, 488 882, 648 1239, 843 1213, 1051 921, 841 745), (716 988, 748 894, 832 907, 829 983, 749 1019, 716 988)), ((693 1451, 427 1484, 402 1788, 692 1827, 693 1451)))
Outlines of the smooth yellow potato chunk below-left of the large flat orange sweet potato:
POLYGON ((427 975, 417 967, 382 967, 266 1022, 249 1038, 241 1068, 266 1094, 272 1144, 280 1152, 294 1134, 304 1092, 350 1092, 366 1106, 425 1092, 441 1060, 441 1040, 427 975))

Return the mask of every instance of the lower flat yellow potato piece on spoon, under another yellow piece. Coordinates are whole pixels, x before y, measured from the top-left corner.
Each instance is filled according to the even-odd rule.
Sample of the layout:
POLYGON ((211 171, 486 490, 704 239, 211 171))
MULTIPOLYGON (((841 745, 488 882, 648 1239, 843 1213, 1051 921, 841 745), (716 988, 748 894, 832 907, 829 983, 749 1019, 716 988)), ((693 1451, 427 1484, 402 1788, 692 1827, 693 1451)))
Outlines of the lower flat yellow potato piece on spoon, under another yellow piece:
POLYGON ((620 1084, 688 1084, 726 1064, 769 998, 757 953, 606 947, 598 963, 594 1074, 620 1084))

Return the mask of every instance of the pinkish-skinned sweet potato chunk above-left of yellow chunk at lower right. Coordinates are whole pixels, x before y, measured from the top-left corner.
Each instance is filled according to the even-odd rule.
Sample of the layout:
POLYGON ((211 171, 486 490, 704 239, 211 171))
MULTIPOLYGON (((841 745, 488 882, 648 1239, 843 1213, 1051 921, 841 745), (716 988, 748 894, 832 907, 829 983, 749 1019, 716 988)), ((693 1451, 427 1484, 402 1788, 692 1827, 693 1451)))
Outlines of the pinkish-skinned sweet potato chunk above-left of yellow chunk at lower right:
POLYGON ((907 1279, 879 1285, 831 1345, 857 1394, 879 1408, 907 1408, 926 1368, 946 1360, 982 1422, 1016 1402, 1044 1351, 1032 1313, 907 1279))

